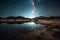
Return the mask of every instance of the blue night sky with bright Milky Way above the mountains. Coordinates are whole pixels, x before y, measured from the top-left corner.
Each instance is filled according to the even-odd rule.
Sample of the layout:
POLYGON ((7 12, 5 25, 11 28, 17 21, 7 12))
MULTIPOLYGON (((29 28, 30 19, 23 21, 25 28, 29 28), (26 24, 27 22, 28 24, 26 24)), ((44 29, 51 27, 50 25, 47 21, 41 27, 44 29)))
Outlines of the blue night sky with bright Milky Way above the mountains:
POLYGON ((59 0, 0 0, 0 17, 60 16, 59 0))

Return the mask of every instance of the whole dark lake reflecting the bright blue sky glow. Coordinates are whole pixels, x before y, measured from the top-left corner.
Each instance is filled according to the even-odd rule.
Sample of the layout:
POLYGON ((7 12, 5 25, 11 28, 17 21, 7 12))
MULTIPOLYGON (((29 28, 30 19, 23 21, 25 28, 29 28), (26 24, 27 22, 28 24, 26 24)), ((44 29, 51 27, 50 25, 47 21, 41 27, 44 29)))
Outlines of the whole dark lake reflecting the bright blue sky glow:
POLYGON ((43 28, 45 25, 26 22, 23 24, 0 24, 0 37, 2 40, 15 40, 25 31, 43 28))

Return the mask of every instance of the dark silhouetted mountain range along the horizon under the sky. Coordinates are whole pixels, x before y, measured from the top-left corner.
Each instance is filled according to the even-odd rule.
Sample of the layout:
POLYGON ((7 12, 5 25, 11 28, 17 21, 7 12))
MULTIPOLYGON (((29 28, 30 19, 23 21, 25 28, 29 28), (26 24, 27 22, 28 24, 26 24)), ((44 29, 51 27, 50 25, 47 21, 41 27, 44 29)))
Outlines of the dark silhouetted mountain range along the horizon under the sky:
MULTIPOLYGON (((6 18, 0 17, 0 19, 16 19, 16 18, 18 18, 18 19, 19 18, 27 19, 27 18, 25 18, 23 16, 17 16, 17 17, 9 16, 9 17, 6 17, 6 18)), ((39 17, 35 17, 33 19, 60 19, 60 16, 50 16, 50 17, 39 16, 39 17)))

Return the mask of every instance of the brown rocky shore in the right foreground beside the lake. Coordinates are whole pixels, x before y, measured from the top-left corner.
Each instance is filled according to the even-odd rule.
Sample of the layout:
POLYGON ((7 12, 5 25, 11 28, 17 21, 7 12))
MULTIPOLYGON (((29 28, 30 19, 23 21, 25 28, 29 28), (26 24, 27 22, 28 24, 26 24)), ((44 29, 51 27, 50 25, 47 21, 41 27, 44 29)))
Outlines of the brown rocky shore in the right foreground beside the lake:
POLYGON ((20 34, 16 40, 60 40, 60 26, 50 26, 20 34))

